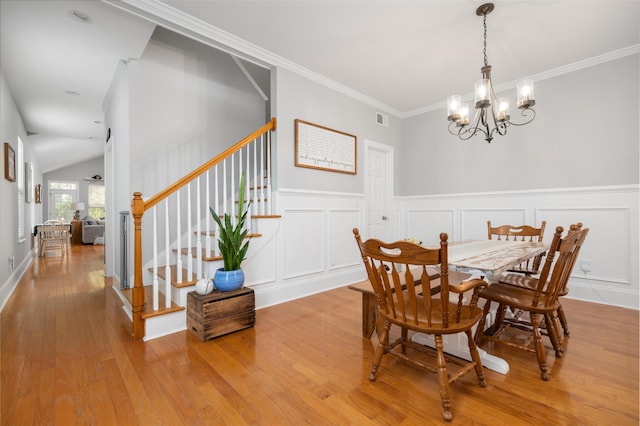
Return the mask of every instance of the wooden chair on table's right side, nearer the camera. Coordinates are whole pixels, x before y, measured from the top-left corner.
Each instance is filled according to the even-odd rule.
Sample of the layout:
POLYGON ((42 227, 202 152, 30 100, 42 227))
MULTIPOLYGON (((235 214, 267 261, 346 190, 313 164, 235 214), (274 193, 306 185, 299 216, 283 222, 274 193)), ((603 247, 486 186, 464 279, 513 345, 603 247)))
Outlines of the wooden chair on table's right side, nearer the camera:
POLYGON ((549 380, 546 349, 542 342, 542 321, 556 357, 562 357, 563 349, 557 325, 558 298, 567 285, 575 261, 575 253, 584 243, 589 229, 568 232, 565 237, 562 237, 563 231, 561 226, 556 228, 534 291, 501 283, 480 290, 480 297, 485 299, 486 303, 484 315, 476 329, 476 342, 480 344, 483 339, 487 339, 535 352, 542 380, 549 380), (498 310, 493 325, 485 329, 485 320, 492 302, 498 303, 498 310), (524 321, 519 315, 514 318, 505 318, 508 307, 513 311, 526 313, 529 318, 524 321), (513 328, 530 333, 530 338, 523 341, 518 333, 514 336, 509 332, 513 328))

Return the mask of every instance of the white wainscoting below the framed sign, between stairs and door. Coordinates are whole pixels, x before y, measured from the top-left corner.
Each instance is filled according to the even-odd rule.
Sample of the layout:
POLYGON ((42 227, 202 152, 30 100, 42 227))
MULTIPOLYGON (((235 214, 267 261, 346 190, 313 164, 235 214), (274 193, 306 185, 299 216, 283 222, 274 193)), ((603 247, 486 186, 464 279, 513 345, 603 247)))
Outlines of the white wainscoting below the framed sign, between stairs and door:
POLYGON ((364 228, 364 194, 281 189, 273 282, 254 287, 256 308, 361 281, 366 272, 353 238, 364 228))

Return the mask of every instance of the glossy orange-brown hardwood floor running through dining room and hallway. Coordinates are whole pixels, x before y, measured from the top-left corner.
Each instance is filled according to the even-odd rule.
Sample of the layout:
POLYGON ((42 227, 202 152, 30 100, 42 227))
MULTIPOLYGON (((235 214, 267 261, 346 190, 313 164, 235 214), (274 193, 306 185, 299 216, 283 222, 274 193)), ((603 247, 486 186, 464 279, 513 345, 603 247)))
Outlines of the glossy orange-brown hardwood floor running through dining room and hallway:
MULTIPOLYGON (((202 343, 130 338, 103 246, 35 258, 1 314, 2 425, 438 424, 437 377, 383 360, 367 379, 360 293, 257 311, 256 326, 202 343)), ((453 424, 637 425, 638 312, 565 299, 564 358, 484 345, 511 371, 451 387, 453 424)))

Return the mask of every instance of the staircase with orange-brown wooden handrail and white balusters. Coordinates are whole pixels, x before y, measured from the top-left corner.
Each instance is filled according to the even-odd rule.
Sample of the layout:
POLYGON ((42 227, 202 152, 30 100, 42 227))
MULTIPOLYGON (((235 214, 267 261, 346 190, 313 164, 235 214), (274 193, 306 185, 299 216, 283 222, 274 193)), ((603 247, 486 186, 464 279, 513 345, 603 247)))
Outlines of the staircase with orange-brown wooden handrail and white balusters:
MULTIPOLYGON (((276 128, 276 121, 272 119, 267 124, 256 130, 247 138, 241 140, 236 145, 216 156, 212 160, 189 173, 178 182, 170 185, 165 190, 150 199, 143 201, 142 194, 134 193, 132 201, 132 217, 134 220, 134 286, 123 290, 125 298, 129 301, 129 306, 125 310, 130 311, 132 319, 132 334, 135 339, 151 339, 161 335, 170 334, 186 329, 186 306, 187 294, 195 290, 198 281, 198 273, 207 278, 213 278, 215 269, 222 267, 222 257, 217 254, 217 240, 215 229, 211 230, 207 220, 210 220, 208 213, 209 206, 216 206, 216 211, 224 213, 225 209, 220 205, 234 206, 234 182, 239 181, 239 175, 247 173, 251 179, 250 172, 253 168, 254 186, 249 189, 247 197, 252 202, 252 211, 248 222, 251 223, 250 238, 262 238, 263 234, 256 232, 259 223, 263 219, 280 218, 280 215, 273 214, 270 207, 269 197, 271 196, 270 186, 270 132, 276 128), (266 150, 266 155, 263 151, 266 150), (236 158, 236 155, 239 158, 236 158), (246 162, 246 167, 245 163, 246 162), (250 162, 253 162, 252 164, 250 162), (264 165, 264 167, 263 167, 264 165), (218 168, 221 168, 220 173, 218 168), (229 170, 230 172, 229 173, 229 170), (255 171, 260 171, 258 175, 255 171), (210 174, 215 177, 212 178, 210 174), (222 176, 219 179, 219 175, 222 176), (256 178, 256 176, 259 176, 256 178), (229 181, 229 182, 228 182, 229 181), (262 184, 262 182, 267 182, 262 184), (257 184, 256 184, 257 183, 257 184), (191 185, 196 186, 195 200, 192 200, 194 191, 191 185), (230 184, 230 185, 229 185, 230 184), (206 188, 204 191, 201 188, 206 188), (222 196, 219 197, 218 192, 222 196), (266 191, 266 194, 265 194, 266 191), (187 205, 180 210, 181 195, 187 205), (215 199, 210 201, 210 196, 215 199), (186 197, 184 195, 186 194, 186 197), (255 195, 254 195, 255 194, 255 195), (177 206, 177 212, 169 213, 169 197, 174 198, 172 207, 177 206), (201 197, 205 197, 204 203, 201 197), (162 206, 164 205, 164 212, 162 206), (203 209, 204 205, 204 209, 203 209), (160 209, 158 209, 160 207, 160 209), (192 213, 195 211, 195 214, 192 213), (183 215, 187 216, 187 220, 183 215), (151 213, 145 215, 145 213, 151 213), (164 215, 164 218, 162 218, 164 215), (143 266, 143 233, 142 217, 145 218, 145 226, 151 222, 153 242, 149 244, 148 234, 145 234, 145 253, 147 255, 146 267, 143 266), (164 220, 164 234, 158 231, 156 217, 161 216, 160 222, 164 220), (192 224, 195 216, 196 225, 192 224), (186 230, 181 231, 181 224, 187 222, 186 230), (206 226, 202 226, 204 221, 206 226), (175 235, 171 235, 170 228, 177 227, 175 235), (195 228, 195 229, 192 229, 195 228), (205 228, 205 229, 203 229, 205 228), (195 236, 196 245, 190 244, 192 235, 195 236), (164 248, 158 248, 157 240, 164 239, 164 248), (187 239, 187 244, 183 247, 182 242, 187 239), (209 239, 209 241, 207 241, 209 239), (205 244, 206 242, 206 244, 205 244), (208 247, 210 249, 207 249, 208 247), (208 253, 207 253, 208 252, 208 253), (153 259, 153 266, 150 266, 150 259, 153 259), (158 265, 158 258, 162 257, 163 265, 158 265), (167 262, 167 260, 170 260, 167 262), (195 262, 195 266, 194 266, 195 262), (143 282, 151 280, 152 285, 143 285, 143 282), (167 293, 170 297, 167 298, 167 293)), ((248 179, 248 180, 249 180, 248 179)), ((232 209, 227 209, 227 211, 232 209)), ((213 220, 211 220, 213 223, 213 220)), ((215 227, 215 225, 214 225, 215 227)), ((175 229, 175 228, 174 228, 175 229)), ((148 231, 147 231, 148 232, 148 231)), ((247 262, 252 258, 252 246, 247 253, 247 262)))

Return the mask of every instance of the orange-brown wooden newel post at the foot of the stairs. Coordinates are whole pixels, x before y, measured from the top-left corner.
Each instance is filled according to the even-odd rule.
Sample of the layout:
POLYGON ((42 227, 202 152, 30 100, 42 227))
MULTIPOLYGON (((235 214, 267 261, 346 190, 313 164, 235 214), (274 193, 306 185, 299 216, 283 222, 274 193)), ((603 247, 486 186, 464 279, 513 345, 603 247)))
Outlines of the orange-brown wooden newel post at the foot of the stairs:
POLYGON ((138 340, 144 337, 144 284, 142 283, 142 215, 144 214, 144 201, 141 192, 133 193, 131 201, 131 213, 133 216, 133 338, 138 340))

